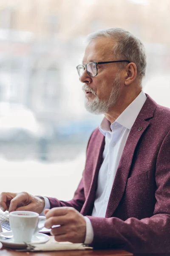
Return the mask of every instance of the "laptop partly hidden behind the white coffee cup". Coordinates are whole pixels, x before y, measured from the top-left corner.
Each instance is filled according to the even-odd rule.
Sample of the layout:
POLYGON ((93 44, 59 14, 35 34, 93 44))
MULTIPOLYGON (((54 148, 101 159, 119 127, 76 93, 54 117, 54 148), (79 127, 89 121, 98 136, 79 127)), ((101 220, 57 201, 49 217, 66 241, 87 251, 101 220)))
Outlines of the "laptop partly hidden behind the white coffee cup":
MULTIPOLYGON (((39 224, 43 225, 45 223, 45 217, 42 216, 42 219, 40 220, 39 224)), ((10 224, 9 224, 9 213, 6 212, 0 212, 0 232, 6 232, 11 231, 10 224)), ((50 233, 51 229, 47 229, 46 227, 43 227, 39 232, 40 233, 50 233)))

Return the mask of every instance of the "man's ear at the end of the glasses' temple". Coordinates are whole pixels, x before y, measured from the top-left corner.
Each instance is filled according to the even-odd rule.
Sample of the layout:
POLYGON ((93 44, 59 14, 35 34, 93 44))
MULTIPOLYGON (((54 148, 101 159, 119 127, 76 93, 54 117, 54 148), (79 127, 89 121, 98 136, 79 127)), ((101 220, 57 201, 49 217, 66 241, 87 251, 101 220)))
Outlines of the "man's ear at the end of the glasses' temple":
POLYGON ((124 83, 125 85, 129 85, 136 79, 137 67, 135 63, 130 62, 129 64, 127 64, 125 69, 126 69, 126 74, 125 74, 124 83))

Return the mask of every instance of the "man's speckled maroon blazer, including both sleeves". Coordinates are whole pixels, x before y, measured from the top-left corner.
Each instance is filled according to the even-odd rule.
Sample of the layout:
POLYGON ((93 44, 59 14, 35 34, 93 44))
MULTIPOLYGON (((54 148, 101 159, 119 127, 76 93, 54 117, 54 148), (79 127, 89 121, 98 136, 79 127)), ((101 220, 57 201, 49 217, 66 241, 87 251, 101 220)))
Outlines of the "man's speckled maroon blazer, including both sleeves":
POLYGON ((131 128, 113 182, 105 218, 91 216, 105 137, 88 142, 82 180, 71 201, 48 198, 52 207, 74 207, 94 229, 94 248, 170 253, 170 109, 150 96, 131 128))

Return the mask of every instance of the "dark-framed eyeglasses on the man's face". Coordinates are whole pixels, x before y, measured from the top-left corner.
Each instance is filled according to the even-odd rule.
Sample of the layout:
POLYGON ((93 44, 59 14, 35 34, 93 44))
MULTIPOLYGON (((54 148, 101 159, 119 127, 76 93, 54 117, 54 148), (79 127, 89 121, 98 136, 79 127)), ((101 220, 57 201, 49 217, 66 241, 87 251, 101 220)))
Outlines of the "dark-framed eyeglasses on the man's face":
POLYGON ((86 70, 88 75, 91 77, 97 76, 97 65, 98 64, 107 64, 107 63, 115 63, 115 62, 128 62, 130 61, 104 61, 104 62, 89 62, 86 65, 78 65, 77 71, 79 74, 79 77, 82 76, 83 72, 86 70))

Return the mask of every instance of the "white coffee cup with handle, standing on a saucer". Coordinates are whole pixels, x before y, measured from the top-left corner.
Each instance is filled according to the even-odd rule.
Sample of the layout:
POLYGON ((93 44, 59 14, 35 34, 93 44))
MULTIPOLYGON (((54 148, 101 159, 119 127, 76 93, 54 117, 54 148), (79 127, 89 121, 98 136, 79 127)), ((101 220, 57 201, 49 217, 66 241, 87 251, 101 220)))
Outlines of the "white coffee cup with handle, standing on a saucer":
POLYGON ((9 224, 14 236, 14 242, 29 243, 32 236, 40 231, 42 227, 38 227, 40 219, 45 216, 39 216, 37 212, 16 211, 9 213, 9 224))

